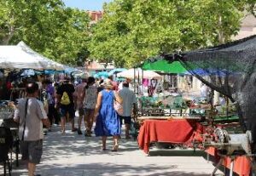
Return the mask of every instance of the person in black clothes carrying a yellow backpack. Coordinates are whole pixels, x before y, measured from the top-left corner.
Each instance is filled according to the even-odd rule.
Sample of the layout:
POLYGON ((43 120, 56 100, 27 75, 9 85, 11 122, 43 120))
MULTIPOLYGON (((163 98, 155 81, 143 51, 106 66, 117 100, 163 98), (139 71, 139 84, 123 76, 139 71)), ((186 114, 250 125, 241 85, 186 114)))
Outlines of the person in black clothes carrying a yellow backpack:
POLYGON ((71 119, 72 132, 77 131, 74 127, 74 101, 73 93, 75 91, 73 84, 71 84, 68 77, 65 78, 61 86, 56 92, 56 108, 60 108, 61 113, 61 132, 64 134, 66 132, 66 119, 71 119))

